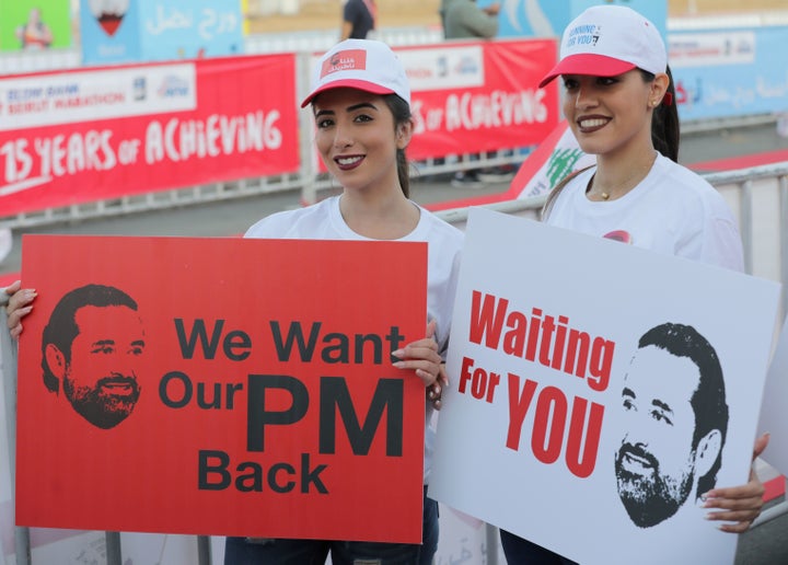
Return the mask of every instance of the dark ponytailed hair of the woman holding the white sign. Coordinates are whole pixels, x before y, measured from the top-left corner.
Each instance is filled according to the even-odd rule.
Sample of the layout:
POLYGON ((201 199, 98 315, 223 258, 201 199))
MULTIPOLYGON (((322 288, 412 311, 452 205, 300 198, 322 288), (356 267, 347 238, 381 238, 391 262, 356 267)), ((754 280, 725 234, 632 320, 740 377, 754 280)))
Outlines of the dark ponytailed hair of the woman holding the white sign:
MULTIPOLYGON (((651 82, 654 80, 656 74, 642 69, 638 70, 640 71, 644 82, 651 82)), ((662 97, 662 103, 653 109, 653 115, 651 116, 651 143, 654 146, 657 151, 665 155, 671 161, 677 163, 681 128, 679 125, 675 84, 673 82, 673 73, 670 70, 670 65, 665 69, 665 73, 668 74, 668 79, 670 81, 668 83, 668 90, 662 97)), ((556 198, 558 198, 558 195, 561 193, 564 187, 569 184, 569 181, 587 169, 590 169, 590 166, 569 173, 561 178, 557 185, 555 185, 547 195, 547 200, 545 200, 545 204, 542 207, 542 219, 549 215, 549 211, 553 208, 553 203, 555 203, 556 198)))

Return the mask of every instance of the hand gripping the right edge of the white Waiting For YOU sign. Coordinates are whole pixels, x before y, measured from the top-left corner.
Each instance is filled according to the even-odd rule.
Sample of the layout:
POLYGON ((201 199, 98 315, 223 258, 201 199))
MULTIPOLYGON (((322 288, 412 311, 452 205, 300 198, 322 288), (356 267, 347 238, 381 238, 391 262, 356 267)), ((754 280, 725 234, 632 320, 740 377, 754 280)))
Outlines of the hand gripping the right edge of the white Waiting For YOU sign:
MULTIPOLYGON (((768 434, 764 434, 755 440, 753 449, 753 461, 768 445, 768 434)), ((745 485, 730 488, 712 488, 700 498, 704 500, 704 508, 719 508, 706 515, 708 520, 725 520, 719 529, 725 532, 742 533, 750 529, 752 522, 761 515, 763 508, 764 486, 755 473, 750 470, 750 482, 745 485)))

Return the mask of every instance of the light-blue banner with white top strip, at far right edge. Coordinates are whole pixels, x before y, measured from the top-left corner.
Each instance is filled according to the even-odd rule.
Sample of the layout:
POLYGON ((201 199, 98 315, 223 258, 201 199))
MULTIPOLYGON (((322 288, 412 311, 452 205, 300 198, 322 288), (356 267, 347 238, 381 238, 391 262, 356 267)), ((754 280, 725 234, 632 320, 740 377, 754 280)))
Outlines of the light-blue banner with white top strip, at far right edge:
POLYGON ((673 32, 670 58, 682 122, 788 109, 785 26, 673 32))

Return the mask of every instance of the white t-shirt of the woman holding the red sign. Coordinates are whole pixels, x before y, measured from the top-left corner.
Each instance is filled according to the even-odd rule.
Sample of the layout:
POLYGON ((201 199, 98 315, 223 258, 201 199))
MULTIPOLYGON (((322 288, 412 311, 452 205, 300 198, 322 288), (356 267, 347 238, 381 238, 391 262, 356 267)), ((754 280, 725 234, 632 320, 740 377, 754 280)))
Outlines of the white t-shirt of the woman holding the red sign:
MULTIPOLYGON (((244 238, 371 241, 345 223, 339 211, 340 198, 333 196, 313 206, 273 214, 246 230, 244 238)), ((416 229, 396 241, 424 241, 428 244, 427 321, 436 319, 438 322, 436 341, 441 357, 445 359, 464 234, 429 210, 415 203, 414 206, 419 209, 419 222, 416 229)), ((403 265, 403 268, 407 266, 403 265)), ((434 450, 431 403, 426 403, 426 411, 425 484, 429 478, 434 450)))

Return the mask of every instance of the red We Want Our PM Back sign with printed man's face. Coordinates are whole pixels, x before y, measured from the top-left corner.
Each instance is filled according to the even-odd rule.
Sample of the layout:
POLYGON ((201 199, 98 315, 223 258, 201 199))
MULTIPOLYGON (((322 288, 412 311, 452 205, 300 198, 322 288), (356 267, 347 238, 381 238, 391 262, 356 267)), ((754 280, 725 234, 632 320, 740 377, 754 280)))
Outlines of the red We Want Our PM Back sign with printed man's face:
POLYGON ((18 524, 420 542, 425 243, 23 247, 18 524))

